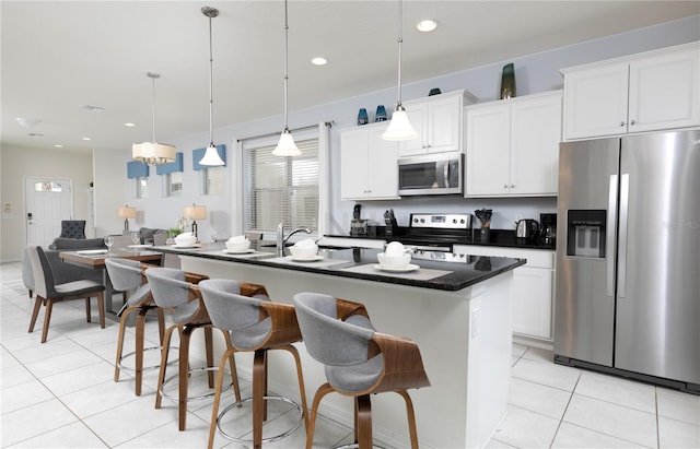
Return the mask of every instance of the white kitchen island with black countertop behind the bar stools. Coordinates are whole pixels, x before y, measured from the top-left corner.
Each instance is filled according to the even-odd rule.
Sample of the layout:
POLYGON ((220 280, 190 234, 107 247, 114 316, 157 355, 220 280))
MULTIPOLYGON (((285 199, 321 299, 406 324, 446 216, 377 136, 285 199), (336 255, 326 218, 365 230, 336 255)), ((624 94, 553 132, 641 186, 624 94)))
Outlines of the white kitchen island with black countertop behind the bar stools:
MULTIPOLYGON (((294 261, 257 245, 243 255, 230 255, 223 245, 154 249, 178 255, 187 271, 262 284, 275 302, 291 304, 299 292, 318 292, 365 304, 381 332, 408 336, 420 347, 431 381, 429 388, 410 391, 421 447, 472 448, 489 440, 506 411, 512 270, 524 260, 421 252, 411 261, 419 270, 384 272, 375 267, 376 249, 326 249, 318 260, 294 261)), ((313 395, 326 381, 323 366, 303 344, 300 353, 307 394, 313 395)), ((244 355, 236 355, 238 374, 249 378, 252 363, 244 355)), ((299 399, 289 381, 293 364, 277 355, 270 354, 270 390, 299 399)), ((400 397, 375 395, 372 405, 374 437, 408 447, 400 397)), ((349 427, 352 411, 351 400, 339 394, 327 397, 320 409, 349 427)))

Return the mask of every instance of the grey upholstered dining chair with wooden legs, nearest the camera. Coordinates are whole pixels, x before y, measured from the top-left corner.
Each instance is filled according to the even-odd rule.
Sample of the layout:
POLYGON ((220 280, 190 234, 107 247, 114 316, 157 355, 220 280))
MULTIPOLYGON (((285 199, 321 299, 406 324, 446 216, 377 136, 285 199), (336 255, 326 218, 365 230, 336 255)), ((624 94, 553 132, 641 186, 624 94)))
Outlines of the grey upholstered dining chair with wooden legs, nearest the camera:
POLYGON ((105 328, 105 303, 104 291, 105 286, 95 281, 73 281, 62 284, 56 284, 54 282, 54 273, 51 272, 51 265, 48 262, 44 249, 38 246, 27 246, 27 256, 32 263, 32 275, 34 279, 34 293, 36 299, 34 300, 34 310, 32 311, 32 319, 30 321, 28 332, 34 332, 34 324, 39 315, 42 305, 45 306, 44 311, 44 328, 42 329, 42 343, 46 342, 48 335, 48 326, 51 320, 51 311, 55 303, 60 303, 70 299, 85 299, 85 314, 88 322, 91 322, 91 309, 90 298, 97 298, 97 309, 100 314, 100 327, 105 328))

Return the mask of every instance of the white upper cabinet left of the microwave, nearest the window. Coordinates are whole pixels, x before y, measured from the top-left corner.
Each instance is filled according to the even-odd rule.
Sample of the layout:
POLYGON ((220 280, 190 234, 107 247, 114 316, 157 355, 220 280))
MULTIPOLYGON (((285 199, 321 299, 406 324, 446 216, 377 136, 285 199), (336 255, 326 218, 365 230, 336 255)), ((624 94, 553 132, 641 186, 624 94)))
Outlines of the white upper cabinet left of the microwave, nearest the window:
POLYGON ((386 123, 364 125, 340 134, 340 197, 343 200, 399 199, 396 142, 382 139, 386 123))

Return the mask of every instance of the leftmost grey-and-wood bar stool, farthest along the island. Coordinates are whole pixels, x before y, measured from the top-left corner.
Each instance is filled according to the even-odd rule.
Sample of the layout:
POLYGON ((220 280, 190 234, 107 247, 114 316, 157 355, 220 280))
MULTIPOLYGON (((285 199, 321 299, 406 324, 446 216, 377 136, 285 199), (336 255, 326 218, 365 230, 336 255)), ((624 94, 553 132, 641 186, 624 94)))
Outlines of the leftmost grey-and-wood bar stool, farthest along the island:
POLYGON ((141 262, 130 259, 105 259, 105 267, 112 280, 112 285, 119 292, 133 292, 126 300, 126 308, 122 309, 119 318, 119 335, 117 338, 117 356, 114 364, 114 381, 119 381, 119 373, 121 369, 131 370, 136 377, 136 395, 141 395, 141 383, 143 371, 154 369, 160 366, 152 365, 143 367, 143 353, 145 351, 161 350, 161 346, 144 346, 145 316, 149 311, 158 312, 158 329, 160 343, 163 343, 163 334, 165 333, 165 311, 158 307, 151 295, 151 287, 145 282, 141 262), (129 316, 136 312, 136 347, 135 351, 122 355, 124 352, 124 334, 127 328, 129 316), (122 361, 127 357, 136 357, 135 367, 122 365, 122 361))

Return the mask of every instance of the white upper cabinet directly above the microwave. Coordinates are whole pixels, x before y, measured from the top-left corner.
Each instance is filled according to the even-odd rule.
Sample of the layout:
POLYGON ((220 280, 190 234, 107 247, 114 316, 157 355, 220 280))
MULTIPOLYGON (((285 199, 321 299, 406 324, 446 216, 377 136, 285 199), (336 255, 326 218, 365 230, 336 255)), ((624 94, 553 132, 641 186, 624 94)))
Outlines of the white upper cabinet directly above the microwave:
POLYGON ((406 114, 418 138, 399 142, 399 157, 447 151, 462 151, 462 114, 477 98, 465 90, 404 102, 406 114))

